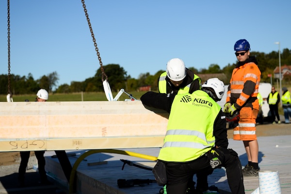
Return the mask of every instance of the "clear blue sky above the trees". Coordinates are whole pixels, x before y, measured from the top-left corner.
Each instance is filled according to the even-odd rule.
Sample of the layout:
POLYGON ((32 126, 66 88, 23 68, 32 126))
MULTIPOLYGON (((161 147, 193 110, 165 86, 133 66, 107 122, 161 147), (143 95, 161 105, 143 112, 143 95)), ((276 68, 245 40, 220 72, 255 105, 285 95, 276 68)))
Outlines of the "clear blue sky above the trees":
MULTIPOLYGON (((103 65, 154 75, 172 58, 186 67, 236 62, 233 46, 291 49, 291 0, 85 0, 103 65)), ((10 0, 11 73, 60 84, 100 67, 81 0, 10 0)), ((8 73, 7 0, 0 0, 0 74, 8 73)), ((289 64, 291 65, 291 64, 289 64)), ((110 76, 109 76, 110 82, 110 76)))

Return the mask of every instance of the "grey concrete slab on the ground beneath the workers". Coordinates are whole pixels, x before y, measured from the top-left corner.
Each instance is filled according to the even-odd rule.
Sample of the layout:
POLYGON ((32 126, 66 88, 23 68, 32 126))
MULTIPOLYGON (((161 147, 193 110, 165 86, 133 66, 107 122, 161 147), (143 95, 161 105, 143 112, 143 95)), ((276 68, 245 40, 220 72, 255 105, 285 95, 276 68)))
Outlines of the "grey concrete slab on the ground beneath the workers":
MULTIPOLYGON (((263 171, 278 171, 281 183, 281 192, 283 194, 291 193, 291 136, 269 136, 258 137, 259 142, 259 167, 263 171)), ((239 154, 242 165, 247 163, 247 157, 241 141, 234 141, 229 139, 229 148, 233 148, 239 154)), ((159 148, 131 148, 124 149, 136 153, 158 156, 159 148)), ((76 157, 80 157, 85 150, 77 151, 76 157)), ((50 175, 66 182, 65 176, 63 178, 60 174, 62 171, 53 169, 60 169, 57 167, 57 159, 50 156, 54 152, 46 152, 46 169, 50 175)), ((72 165, 76 162, 76 157, 69 157, 72 165)), ((151 171, 137 168, 135 166, 125 165, 122 170, 123 162, 129 160, 134 163, 153 167, 156 162, 148 161, 141 158, 130 157, 126 155, 117 155, 112 153, 97 153, 88 156, 80 163, 77 168, 77 193, 86 194, 158 194, 161 189, 156 183, 149 183, 143 186, 136 185, 130 188, 118 188, 118 179, 154 179, 151 171), (90 162, 107 161, 106 164, 89 166, 90 162)), ((209 176, 209 185, 216 185, 221 193, 229 194, 226 171, 224 168, 214 170, 213 174, 209 176)), ((194 176, 195 181, 195 176, 194 176)), ((69 185, 66 185, 69 188, 69 185)), ((259 187, 259 177, 244 178, 245 193, 252 194, 259 187)))

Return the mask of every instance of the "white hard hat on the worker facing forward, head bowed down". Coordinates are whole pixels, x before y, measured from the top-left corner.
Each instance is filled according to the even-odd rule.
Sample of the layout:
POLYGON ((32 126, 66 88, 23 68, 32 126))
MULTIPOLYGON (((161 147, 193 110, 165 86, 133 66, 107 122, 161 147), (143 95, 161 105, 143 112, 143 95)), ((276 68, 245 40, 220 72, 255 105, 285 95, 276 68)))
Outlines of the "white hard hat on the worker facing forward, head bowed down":
POLYGON ((181 59, 171 59, 167 63, 167 76, 173 81, 181 81, 186 77, 186 67, 181 59))

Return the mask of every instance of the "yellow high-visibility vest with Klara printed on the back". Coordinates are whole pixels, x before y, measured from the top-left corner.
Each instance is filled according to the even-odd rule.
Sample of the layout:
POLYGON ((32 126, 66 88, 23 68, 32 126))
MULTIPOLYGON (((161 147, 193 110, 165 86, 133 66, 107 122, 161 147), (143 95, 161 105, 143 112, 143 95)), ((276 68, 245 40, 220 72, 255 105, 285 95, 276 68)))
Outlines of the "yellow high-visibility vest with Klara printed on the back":
POLYGON ((221 107, 202 90, 178 94, 172 104, 158 159, 188 162, 209 151, 215 144, 213 125, 220 110, 221 107))

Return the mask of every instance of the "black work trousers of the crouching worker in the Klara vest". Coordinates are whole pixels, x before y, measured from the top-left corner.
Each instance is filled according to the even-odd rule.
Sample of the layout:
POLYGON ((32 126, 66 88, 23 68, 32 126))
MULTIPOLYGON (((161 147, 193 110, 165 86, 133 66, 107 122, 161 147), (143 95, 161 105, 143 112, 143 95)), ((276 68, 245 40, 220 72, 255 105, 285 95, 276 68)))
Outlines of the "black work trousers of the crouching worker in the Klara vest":
MULTIPOLYGON (((222 166, 226 168, 226 176, 231 193, 245 194, 242 177, 242 164, 237 155, 225 154, 222 166)), ((166 163, 168 182, 166 184, 167 194, 185 194, 193 180, 194 174, 206 174, 211 171, 210 159, 203 155, 191 162, 166 163)), ((197 181, 198 182, 198 181, 197 181)))

